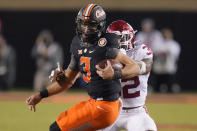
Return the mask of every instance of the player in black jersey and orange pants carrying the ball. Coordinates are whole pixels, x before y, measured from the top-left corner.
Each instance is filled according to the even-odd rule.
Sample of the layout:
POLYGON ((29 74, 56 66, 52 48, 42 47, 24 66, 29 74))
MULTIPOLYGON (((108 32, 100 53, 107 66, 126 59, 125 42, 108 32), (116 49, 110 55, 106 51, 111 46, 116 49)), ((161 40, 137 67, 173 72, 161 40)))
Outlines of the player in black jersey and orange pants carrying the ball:
MULTIPOLYGON (((78 73, 87 83, 90 99, 83 101, 61 113, 50 126, 50 131, 95 131, 111 125, 118 117, 120 109, 120 78, 135 76, 139 66, 117 49, 120 37, 104 33, 106 14, 102 7, 88 4, 80 9, 76 24, 77 35, 71 43, 71 61, 64 71, 60 66, 52 72, 54 81, 45 90, 38 92, 26 102, 30 109, 43 98, 60 93, 75 82, 78 73), (96 65, 104 59, 115 59, 124 64, 120 70, 111 70, 104 80, 97 74, 96 65)), ((108 66, 110 62, 108 61, 108 66)))

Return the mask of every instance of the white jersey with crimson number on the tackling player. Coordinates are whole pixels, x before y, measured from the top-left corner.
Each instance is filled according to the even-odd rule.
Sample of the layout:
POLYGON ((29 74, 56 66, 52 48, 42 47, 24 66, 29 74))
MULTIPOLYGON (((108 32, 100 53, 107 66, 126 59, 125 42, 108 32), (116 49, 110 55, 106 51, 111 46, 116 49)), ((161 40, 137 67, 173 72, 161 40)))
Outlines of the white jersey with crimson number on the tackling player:
MULTIPOLYGON (((144 44, 135 46, 135 48, 128 50, 126 54, 135 61, 153 57, 150 48, 144 44)), ((146 75, 138 75, 131 79, 121 80, 121 100, 123 107, 138 107, 145 104, 148 77, 149 73, 146 75)))

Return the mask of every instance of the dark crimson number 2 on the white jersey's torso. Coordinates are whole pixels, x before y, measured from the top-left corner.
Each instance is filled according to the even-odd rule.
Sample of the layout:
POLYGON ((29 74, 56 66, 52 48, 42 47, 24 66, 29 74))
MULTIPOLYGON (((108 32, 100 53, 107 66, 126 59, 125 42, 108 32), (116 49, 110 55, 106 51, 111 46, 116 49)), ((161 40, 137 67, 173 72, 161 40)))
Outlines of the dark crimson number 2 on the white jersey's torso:
POLYGON ((136 91, 134 93, 129 93, 129 89, 137 88, 140 84, 140 80, 138 76, 135 76, 130 79, 122 79, 122 83, 127 82, 128 84, 125 84, 122 88, 123 92, 123 98, 135 98, 140 96, 140 91, 136 91))

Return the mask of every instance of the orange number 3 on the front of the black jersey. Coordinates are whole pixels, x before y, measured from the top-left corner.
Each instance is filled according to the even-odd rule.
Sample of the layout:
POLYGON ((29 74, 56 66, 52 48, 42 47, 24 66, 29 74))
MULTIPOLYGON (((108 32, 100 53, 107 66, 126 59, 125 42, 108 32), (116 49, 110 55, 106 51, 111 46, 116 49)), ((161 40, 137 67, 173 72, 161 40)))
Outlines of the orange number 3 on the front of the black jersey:
POLYGON ((83 79, 85 82, 89 83, 90 82, 90 79, 91 79, 91 72, 90 72, 90 57, 81 57, 80 59, 80 64, 84 64, 84 67, 83 67, 83 71, 86 73, 86 74, 83 74, 83 79))

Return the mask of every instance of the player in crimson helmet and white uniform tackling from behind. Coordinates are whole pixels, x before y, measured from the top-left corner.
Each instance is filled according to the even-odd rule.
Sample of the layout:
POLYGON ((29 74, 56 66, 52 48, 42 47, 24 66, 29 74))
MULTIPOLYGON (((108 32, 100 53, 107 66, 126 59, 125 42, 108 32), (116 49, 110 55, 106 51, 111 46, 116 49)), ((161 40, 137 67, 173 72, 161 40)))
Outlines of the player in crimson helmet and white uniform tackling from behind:
MULTIPOLYGON (((120 48, 141 67, 140 74, 121 80, 122 108, 116 122, 104 131, 156 131, 157 127, 145 106, 147 82, 153 62, 153 53, 146 45, 134 42, 135 31, 123 20, 114 21, 107 28, 108 33, 121 36, 120 48)), ((104 72, 103 72, 104 73, 104 72)))

